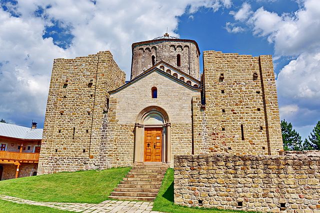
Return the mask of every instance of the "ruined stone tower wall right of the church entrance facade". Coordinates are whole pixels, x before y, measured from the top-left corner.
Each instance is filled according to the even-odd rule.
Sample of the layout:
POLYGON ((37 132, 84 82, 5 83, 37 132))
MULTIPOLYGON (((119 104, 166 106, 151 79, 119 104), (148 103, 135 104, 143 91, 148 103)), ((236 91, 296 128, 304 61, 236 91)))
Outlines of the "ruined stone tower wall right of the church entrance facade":
POLYGON ((192 102, 194 154, 278 154, 283 147, 271 56, 204 51, 203 62, 205 108, 199 99, 192 102))

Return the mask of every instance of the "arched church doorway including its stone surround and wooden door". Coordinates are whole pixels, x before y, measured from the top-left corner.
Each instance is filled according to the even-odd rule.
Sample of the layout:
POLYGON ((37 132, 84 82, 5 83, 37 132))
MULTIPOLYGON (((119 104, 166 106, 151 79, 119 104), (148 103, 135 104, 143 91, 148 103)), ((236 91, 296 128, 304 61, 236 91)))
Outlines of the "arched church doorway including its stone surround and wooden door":
POLYGON ((170 123, 165 110, 143 109, 135 123, 134 162, 171 162, 170 123))

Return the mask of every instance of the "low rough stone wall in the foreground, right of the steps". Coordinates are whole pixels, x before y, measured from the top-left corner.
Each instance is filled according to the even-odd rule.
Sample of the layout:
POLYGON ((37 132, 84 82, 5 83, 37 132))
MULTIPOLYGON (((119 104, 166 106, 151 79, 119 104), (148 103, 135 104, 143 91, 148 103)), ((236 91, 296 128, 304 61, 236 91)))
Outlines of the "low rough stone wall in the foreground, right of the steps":
POLYGON ((174 203, 272 213, 320 213, 320 153, 174 157, 174 203))

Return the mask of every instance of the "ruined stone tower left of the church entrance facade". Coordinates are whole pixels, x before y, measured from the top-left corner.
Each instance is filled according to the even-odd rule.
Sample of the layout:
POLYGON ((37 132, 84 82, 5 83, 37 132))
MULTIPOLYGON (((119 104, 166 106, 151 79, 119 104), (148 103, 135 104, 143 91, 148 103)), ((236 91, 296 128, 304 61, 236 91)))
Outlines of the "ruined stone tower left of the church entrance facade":
POLYGON ((99 147, 107 91, 124 81, 109 51, 54 59, 38 174, 104 167, 99 147))

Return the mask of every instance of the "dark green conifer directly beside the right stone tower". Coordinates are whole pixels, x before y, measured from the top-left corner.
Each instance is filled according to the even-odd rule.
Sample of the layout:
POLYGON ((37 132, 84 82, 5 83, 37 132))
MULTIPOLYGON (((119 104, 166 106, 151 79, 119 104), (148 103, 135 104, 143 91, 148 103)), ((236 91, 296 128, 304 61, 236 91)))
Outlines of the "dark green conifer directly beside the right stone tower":
POLYGON ((292 129, 292 124, 281 121, 281 132, 284 150, 302 150, 302 140, 299 133, 292 129))

